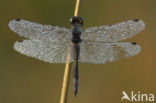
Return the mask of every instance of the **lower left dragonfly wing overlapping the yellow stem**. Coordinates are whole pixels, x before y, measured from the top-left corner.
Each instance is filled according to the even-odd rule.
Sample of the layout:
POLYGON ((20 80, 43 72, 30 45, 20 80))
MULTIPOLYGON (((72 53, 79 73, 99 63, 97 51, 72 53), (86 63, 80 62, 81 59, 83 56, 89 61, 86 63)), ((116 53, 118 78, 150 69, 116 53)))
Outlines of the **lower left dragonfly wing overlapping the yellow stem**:
POLYGON ((70 55, 69 63, 74 61, 72 56, 72 43, 58 44, 34 40, 17 41, 14 49, 36 59, 49 63, 66 63, 67 54, 70 55))

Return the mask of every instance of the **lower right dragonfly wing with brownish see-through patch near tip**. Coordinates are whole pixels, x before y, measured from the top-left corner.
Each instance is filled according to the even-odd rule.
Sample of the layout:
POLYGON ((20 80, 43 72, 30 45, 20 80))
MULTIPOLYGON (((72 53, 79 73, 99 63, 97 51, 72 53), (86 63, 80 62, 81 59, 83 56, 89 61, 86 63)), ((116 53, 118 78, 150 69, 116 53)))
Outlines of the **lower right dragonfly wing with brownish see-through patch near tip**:
POLYGON ((141 47, 131 42, 82 42, 80 61, 84 63, 104 64, 138 54, 141 47))

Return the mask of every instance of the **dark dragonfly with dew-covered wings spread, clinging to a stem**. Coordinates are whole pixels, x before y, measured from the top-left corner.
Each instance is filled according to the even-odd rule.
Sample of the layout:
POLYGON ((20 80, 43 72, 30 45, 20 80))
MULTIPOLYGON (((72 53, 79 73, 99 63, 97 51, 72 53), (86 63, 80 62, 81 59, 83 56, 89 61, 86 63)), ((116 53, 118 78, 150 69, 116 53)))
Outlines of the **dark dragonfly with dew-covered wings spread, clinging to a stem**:
POLYGON ((14 19, 9 27, 27 39, 16 41, 14 49, 21 54, 49 63, 74 62, 73 87, 77 94, 78 62, 105 64, 137 55, 141 47, 136 42, 121 42, 145 28, 142 20, 127 20, 114 25, 101 25, 82 30, 79 16, 70 19, 71 29, 42 25, 14 19), (69 60, 67 61, 67 56, 69 60))

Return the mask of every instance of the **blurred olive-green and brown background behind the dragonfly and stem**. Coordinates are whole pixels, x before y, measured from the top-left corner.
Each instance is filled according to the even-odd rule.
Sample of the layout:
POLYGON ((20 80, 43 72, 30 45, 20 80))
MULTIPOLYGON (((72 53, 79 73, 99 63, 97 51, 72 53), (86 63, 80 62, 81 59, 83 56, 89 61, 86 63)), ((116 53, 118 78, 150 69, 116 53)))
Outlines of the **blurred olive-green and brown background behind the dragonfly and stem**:
MULTIPOLYGON (((70 28, 76 0, 0 1, 0 103, 59 103, 64 64, 45 63, 13 50, 20 37, 8 23, 15 18, 70 28)), ((128 41, 142 52, 129 59, 95 65, 80 63, 80 85, 68 103, 120 103, 122 91, 156 95, 156 0, 82 0, 84 28, 139 18, 146 28, 128 41)), ((72 76, 71 76, 72 77, 72 76)), ((128 103, 128 102, 124 102, 128 103)))

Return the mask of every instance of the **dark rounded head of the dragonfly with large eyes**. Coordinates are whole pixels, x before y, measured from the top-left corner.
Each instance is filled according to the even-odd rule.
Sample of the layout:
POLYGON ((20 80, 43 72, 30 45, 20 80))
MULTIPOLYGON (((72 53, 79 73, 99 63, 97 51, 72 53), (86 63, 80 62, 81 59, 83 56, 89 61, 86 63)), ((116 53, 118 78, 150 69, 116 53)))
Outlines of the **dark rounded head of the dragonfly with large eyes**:
POLYGON ((83 26, 83 19, 81 17, 74 16, 70 19, 70 24, 73 26, 83 26))

